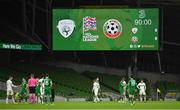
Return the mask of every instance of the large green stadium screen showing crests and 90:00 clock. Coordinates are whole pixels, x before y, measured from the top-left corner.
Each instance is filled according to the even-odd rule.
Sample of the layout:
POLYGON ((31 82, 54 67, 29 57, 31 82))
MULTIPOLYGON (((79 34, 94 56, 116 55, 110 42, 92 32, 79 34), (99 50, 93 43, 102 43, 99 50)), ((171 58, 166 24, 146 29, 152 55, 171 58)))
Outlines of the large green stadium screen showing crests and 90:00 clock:
POLYGON ((159 9, 53 9, 53 50, 158 50, 159 9))

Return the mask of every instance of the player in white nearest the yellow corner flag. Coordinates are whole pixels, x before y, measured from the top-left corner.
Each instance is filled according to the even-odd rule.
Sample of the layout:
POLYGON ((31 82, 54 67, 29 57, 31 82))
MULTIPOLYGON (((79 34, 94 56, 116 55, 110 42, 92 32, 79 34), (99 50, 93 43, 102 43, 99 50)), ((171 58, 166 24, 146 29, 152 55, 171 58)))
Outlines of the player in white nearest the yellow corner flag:
POLYGON ((142 102, 143 99, 146 101, 146 84, 143 80, 137 85, 137 88, 139 89, 140 101, 142 102))

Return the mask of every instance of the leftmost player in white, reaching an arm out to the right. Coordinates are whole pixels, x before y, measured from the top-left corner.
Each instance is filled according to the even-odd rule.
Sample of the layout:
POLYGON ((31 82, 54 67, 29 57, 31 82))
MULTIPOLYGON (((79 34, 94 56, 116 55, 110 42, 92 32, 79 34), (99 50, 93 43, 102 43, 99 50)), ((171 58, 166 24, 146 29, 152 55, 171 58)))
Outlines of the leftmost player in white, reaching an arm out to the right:
POLYGON ((12 101, 13 101, 13 103, 15 103, 15 101, 14 101, 14 96, 13 96, 13 95, 14 95, 14 92, 13 92, 12 87, 17 87, 17 86, 15 86, 15 85, 12 83, 12 79, 13 79, 13 77, 10 76, 9 79, 7 80, 7 82, 6 82, 6 86, 7 86, 6 104, 8 104, 8 98, 9 98, 10 95, 12 96, 12 101))

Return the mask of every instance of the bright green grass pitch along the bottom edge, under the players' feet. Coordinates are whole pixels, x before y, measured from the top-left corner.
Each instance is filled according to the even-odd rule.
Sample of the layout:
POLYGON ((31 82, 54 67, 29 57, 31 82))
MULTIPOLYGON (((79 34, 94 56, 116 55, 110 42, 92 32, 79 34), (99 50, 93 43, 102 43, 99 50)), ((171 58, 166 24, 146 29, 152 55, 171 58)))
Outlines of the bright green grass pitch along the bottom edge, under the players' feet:
POLYGON ((153 102, 136 102, 134 105, 130 105, 130 103, 119 103, 119 102, 100 102, 100 103, 93 103, 93 102, 58 102, 54 103, 53 105, 45 105, 45 104, 5 104, 0 103, 0 109, 124 109, 124 110, 172 110, 172 109, 179 109, 180 110, 180 102, 167 102, 167 101, 153 101, 153 102))

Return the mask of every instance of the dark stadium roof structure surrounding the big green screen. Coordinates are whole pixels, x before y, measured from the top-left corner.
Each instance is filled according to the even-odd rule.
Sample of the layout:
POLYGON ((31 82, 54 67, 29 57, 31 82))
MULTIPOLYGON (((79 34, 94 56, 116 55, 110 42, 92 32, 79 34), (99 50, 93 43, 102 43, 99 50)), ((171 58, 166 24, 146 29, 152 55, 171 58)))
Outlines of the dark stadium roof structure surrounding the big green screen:
MULTIPOLYGON (((139 70, 178 73, 180 65, 180 1, 179 0, 0 0, 1 36, 16 35, 13 41, 39 42, 44 51, 32 52, 35 57, 53 56, 55 59, 78 63, 139 70), (159 51, 51 51, 51 9, 78 8, 81 6, 158 7, 161 11, 159 51), (8 25, 6 25, 8 24, 8 25), (8 30, 7 28, 11 28, 8 30), (15 28, 14 28, 15 27, 15 28), (18 37, 19 36, 19 37, 18 37), (91 60, 90 60, 91 59, 91 60), (136 62, 137 61, 137 62, 136 62)), ((0 41, 12 40, 0 37, 0 41)), ((2 50, 1 50, 2 51, 2 50)), ((11 51, 11 50, 9 50, 11 51)), ((3 51, 7 52, 7 51, 3 51)), ((12 51, 11 53, 18 53, 12 51)), ((30 52, 28 52, 29 54, 30 52)), ((1 53, 0 53, 1 54, 1 53)), ((22 54, 22 52, 20 52, 22 54)), ((11 56, 13 57, 13 56, 11 56)), ((22 57, 25 57, 22 55, 22 57)))

